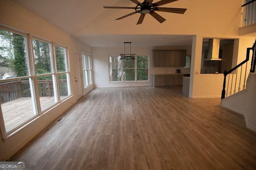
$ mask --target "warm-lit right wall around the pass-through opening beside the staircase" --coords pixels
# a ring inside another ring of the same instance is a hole
[[[246,49],[252,47],[256,37],[226,36],[226,35],[194,35],[192,43],[192,62],[190,70],[190,98],[220,97],[224,76],[223,74],[200,74],[203,38],[232,38],[239,39],[238,49],[234,49],[233,60],[237,65],[246,59]],[[235,41],[236,43],[237,41]],[[235,45],[236,47],[236,45]],[[235,48],[234,47],[234,48]],[[249,69],[250,70],[250,69]],[[198,74],[196,74],[198,72]]]

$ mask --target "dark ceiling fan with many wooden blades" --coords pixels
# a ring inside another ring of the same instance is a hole
[[[130,0],[137,4],[136,7],[118,7],[118,6],[103,6],[103,8],[111,8],[111,9],[134,9],[135,12],[132,12],[130,14],[127,14],[125,16],[122,16],[120,18],[117,18],[116,20],[121,20],[123,18],[126,18],[128,16],[131,16],[136,13],[140,13],[140,18],[137,22],[138,24],[141,24],[144,20],[144,17],[146,14],[150,14],[152,17],[154,17],[156,20],[158,20],[160,23],[166,21],[163,17],[158,15],[156,12],[171,12],[171,13],[177,13],[177,14],[184,14],[187,9],[185,8],[163,8],[158,7],[162,6],[164,4],[169,4],[171,2],[177,1],[177,0],[160,0],[156,3],[152,3],[153,0],[144,0],[144,2],[140,3],[138,0]]]

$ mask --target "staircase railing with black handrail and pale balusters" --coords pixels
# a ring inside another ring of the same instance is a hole
[[[247,48],[246,51],[246,59],[242,61],[240,64],[235,66],[229,71],[224,71],[224,81],[223,81],[223,89],[221,94],[221,99],[224,99],[225,97],[231,96],[232,94],[235,94],[237,92],[241,91],[246,88],[246,76],[247,76],[247,63],[250,58],[250,51],[252,50],[252,61],[251,61],[251,69],[250,72],[255,72],[255,65],[256,65],[256,40],[254,45],[251,48]],[[245,68],[243,68],[243,66]],[[238,70],[239,69],[239,70]],[[231,75],[232,74],[232,75]],[[228,76],[228,81],[226,82],[226,78]],[[239,81],[237,81],[239,80]],[[241,82],[243,83],[241,85]],[[227,84],[227,90],[226,90],[226,84]],[[230,91],[228,91],[230,88]]]

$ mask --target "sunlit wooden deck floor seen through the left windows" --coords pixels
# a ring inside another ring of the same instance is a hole
[[[63,97],[62,97],[63,98]],[[54,97],[40,97],[42,109],[54,104]],[[26,121],[36,113],[33,111],[32,98],[18,98],[1,104],[6,131]]]

